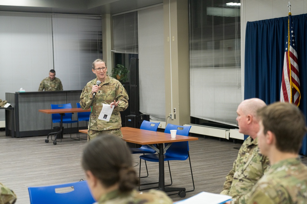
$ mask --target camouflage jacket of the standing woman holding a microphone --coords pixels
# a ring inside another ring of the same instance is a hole
[[[84,87],[80,96],[81,108],[90,108],[93,97],[92,87],[96,85],[97,80],[97,78],[91,80]],[[107,76],[106,80],[99,85],[99,90],[93,101],[90,129],[103,131],[121,128],[122,120],[119,111],[124,111],[128,107],[128,99],[128,94],[122,84],[118,80]],[[99,120],[98,117],[102,109],[102,104],[111,104],[114,100],[116,102],[119,101],[119,103],[118,106],[113,109],[110,121]]]

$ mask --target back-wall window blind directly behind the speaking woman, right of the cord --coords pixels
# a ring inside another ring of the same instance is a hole
[[[100,16],[52,15],[56,76],[64,90],[81,90],[96,76],[92,62],[102,58]]]

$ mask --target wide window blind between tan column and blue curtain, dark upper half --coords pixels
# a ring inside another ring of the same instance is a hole
[[[240,7],[214,0],[189,3],[191,116],[236,126],[242,101]]]

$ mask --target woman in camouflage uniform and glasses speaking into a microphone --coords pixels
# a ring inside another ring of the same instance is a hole
[[[84,87],[80,96],[80,106],[83,109],[88,109],[91,106],[93,94],[96,95],[93,99],[93,109],[89,124],[89,134],[87,140],[92,140],[98,135],[109,134],[116,135],[122,138],[122,120],[119,111],[124,111],[128,107],[128,94],[122,84],[107,75],[107,66],[105,61],[96,59],[92,64],[92,72],[97,76]],[[96,85],[97,80],[101,82]],[[115,106],[110,118],[110,121],[99,120],[99,114],[102,109],[102,104],[110,104]]]

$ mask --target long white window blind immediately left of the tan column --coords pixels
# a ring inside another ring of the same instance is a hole
[[[138,11],[140,112],[165,121],[163,6]]]

